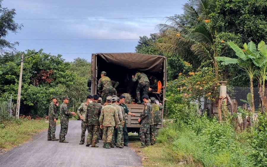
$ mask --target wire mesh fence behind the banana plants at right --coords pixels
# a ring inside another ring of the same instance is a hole
[[[267,90],[265,90],[267,91]],[[254,87],[254,105],[255,110],[260,108],[260,96],[259,96],[259,88]],[[230,96],[231,99],[236,99],[237,106],[242,107],[243,104],[247,103],[250,107],[250,87],[227,87],[227,94]]]

